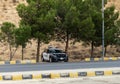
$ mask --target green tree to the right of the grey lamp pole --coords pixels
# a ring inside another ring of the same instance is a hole
[[[105,54],[108,45],[115,44],[115,39],[118,37],[118,28],[116,23],[119,18],[119,12],[115,12],[115,6],[105,9]]]

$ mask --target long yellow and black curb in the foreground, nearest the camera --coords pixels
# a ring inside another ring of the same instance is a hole
[[[1,81],[6,80],[26,80],[26,79],[56,79],[56,78],[78,78],[78,77],[95,77],[95,76],[112,76],[120,75],[120,71],[87,71],[87,72],[68,72],[68,73],[44,73],[44,74],[17,74],[17,75],[0,75]]]

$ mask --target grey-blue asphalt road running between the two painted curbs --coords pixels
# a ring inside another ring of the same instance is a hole
[[[37,64],[16,64],[0,65],[0,72],[23,72],[23,71],[46,71],[46,70],[73,70],[88,68],[114,68],[120,67],[120,61],[108,62],[60,62],[60,63],[37,63]]]

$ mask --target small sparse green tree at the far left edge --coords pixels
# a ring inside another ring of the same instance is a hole
[[[10,61],[12,60],[17,48],[12,48],[15,46],[15,37],[14,37],[14,30],[15,25],[10,22],[4,22],[1,26],[1,37],[4,42],[7,42],[9,45],[9,51],[10,51]]]

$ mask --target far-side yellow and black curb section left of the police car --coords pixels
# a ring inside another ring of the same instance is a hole
[[[0,61],[0,65],[4,64],[34,64],[36,60],[16,60],[16,61]]]

